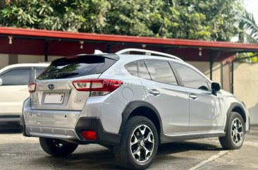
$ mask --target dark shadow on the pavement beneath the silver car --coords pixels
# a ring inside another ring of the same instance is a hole
[[[91,151],[87,151],[87,148]],[[94,149],[96,148],[96,149]],[[158,157],[165,157],[167,154],[175,154],[178,152],[187,152],[188,150],[221,150],[216,145],[209,145],[197,142],[176,142],[159,147]],[[171,162],[173,157],[169,157]],[[121,169],[113,156],[113,151],[104,147],[80,147],[79,152],[75,152],[70,157],[37,157],[33,162],[42,164],[44,159],[49,159],[54,169]],[[183,159],[174,157],[175,159]],[[164,158],[166,159],[166,158]]]

